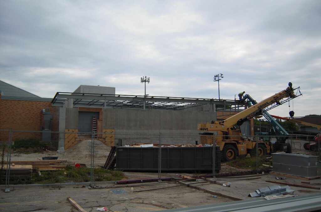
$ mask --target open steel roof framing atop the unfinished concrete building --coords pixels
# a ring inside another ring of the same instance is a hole
[[[109,107],[183,110],[206,104],[242,105],[238,101],[228,99],[208,99],[189,97],[159,97],[139,95],[88,94],[57,92],[51,103],[53,106],[63,106],[66,100],[72,99],[73,106],[78,107]]]

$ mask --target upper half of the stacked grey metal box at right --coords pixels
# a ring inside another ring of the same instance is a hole
[[[317,156],[313,155],[299,155],[289,153],[273,153],[273,163],[282,163],[295,166],[317,166]]]

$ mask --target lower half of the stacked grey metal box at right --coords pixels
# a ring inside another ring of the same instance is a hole
[[[294,166],[288,164],[273,163],[273,172],[281,174],[290,174],[299,177],[316,177],[317,166]]]

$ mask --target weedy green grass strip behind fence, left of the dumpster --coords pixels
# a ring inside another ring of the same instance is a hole
[[[32,170],[30,178],[11,179],[10,184],[54,184],[54,183],[76,183],[76,182],[90,182],[90,168],[80,167],[76,169],[68,165],[65,170],[57,171],[40,171],[38,169]],[[122,171],[113,171],[94,168],[94,181],[114,181],[124,178]]]

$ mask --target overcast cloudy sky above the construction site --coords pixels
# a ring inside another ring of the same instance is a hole
[[[219,73],[223,99],[292,82],[295,116],[320,115],[321,1],[0,1],[0,79],[40,97],[143,95],[147,76],[151,96],[218,98]]]

